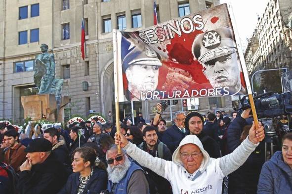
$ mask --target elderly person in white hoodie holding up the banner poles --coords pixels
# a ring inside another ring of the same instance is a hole
[[[193,122],[192,125],[204,123],[199,117],[191,117],[187,122]],[[173,194],[221,194],[223,178],[238,169],[263,138],[261,124],[258,129],[253,124],[249,136],[237,149],[222,158],[213,159],[196,135],[187,135],[174,151],[172,162],[152,157],[128,142],[122,133],[116,133],[115,142],[139,164],[166,178]]]

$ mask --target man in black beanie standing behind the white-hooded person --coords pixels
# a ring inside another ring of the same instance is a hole
[[[185,129],[190,130],[191,135],[197,135],[197,137],[201,140],[204,149],[208,152],[209,156],[211,158],[220,158],[220,147],[213,138],[209,137],[203,131],[203,124],[203,116],[196,111],[187,114],[184,120]]]

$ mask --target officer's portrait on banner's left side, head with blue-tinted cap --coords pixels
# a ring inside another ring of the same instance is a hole
[[[127,100],[144,100],[141,92],[155,91],[158,85],[160,56],[150,47],[139,43],[124,58],[122,70],[128,87]]]

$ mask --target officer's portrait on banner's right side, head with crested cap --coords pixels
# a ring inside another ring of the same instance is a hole
[[[229,95],[246,94],[241,83],[242,67],[238,49],[230,27],[197,35],[192,52],[203,65],[203,72],[214,89],[228,87]]]

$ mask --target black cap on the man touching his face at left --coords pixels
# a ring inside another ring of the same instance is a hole
[[[52,150],[52,144],[49,140],[45,138],[37,138],[34,139],[28,144],[27,148],[25,148],[25,152],[48,152]]]

